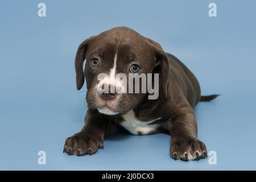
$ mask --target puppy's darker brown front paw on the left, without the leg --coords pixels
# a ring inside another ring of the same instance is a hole
[[[92,155],[103,148],[103,138],[96,134],[80,132],[66,139],[63,152],[69,155]]]

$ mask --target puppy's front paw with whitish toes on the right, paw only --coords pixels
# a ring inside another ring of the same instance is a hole
[[[170,155],[175,160],[199,160],[207,157],[205,144],[194,137],[174,137]]]

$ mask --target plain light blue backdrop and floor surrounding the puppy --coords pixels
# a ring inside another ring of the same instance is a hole
[[[47,16],[39,18],[38,3]],[[208,5],[217,4],[210,18]],[[255,1],[1,1],[0,169],[256,169]],[[118,131],[92,156],[63,154],[84,125],[85,86],[76,90],[75,53],[91,35],[127,26],[179,57],[200,81],[199,138],[217,152],[182,162],[170,137]],[[38,151],[46,151],[46,165]]]

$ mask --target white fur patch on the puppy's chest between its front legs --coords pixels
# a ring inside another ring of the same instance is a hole
[[[125,121],[121,122],[120,125],[134,135],[138,135],[139,133],[146,135],[152,131],[155,131],[156,128],[159,127],[159,125],[157,124],[152,124],[152,125],[148,125],[148,124],[160,118],[154,119],[153,121],[147,121],[147,122],[139,121],[135,117],[133,110],[129,111],[126,114],[123,114],[122,117],[123,119],[125,119]]]

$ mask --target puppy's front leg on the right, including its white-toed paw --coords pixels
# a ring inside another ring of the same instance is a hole
[[[195,111],[187,103],[181,104],[176,117],[170,125],[172,158],[181,160],[196,160],[207,157],[205,144],[197,139],[197,123]]]

